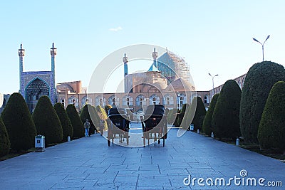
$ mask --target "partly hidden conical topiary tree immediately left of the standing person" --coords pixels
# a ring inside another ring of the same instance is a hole
[[[85,129],[81,122],[81,118],[76,111],[76,107],[73,104],[70,104],[66,107],[66,112],[73,127],[73,139],[84,137]]]

